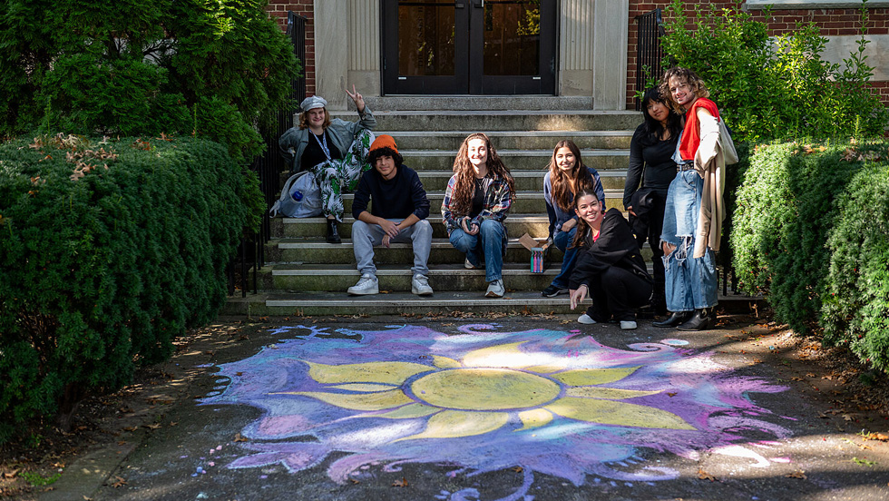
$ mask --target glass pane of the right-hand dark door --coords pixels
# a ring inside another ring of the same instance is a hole
[[[540,0],[484,2],[484,74],[540,74]]]

